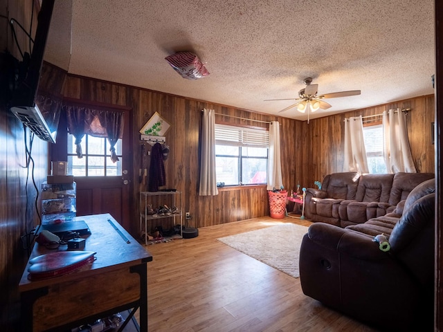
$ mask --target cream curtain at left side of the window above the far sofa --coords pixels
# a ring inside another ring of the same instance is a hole
[[[369,173],[361,116],[345,119],[345,172]]]

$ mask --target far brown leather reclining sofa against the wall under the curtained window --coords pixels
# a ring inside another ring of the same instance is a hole
[[[305,216],[345,228],[383,216],[406,199],[419,183],[434,178],[433,173],[328,174],[321,190],[307,188]]]

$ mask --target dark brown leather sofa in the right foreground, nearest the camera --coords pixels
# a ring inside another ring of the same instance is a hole
[[[374,241],[379,234],[390,250]],[[309,226],[300,248],[302,291],[380,331],[433,331],[434,247],[431,179],[384,216],[346,228]]]

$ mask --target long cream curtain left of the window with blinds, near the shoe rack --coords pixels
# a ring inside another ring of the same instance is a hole
[[[215,111],[203,110],[201,126],[200,196],[214,196],[217,190],[215,174]]]

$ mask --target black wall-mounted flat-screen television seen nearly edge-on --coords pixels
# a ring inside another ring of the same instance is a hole
[[[57,136],[60,107],[53,107],[44,98],[37,98],[37,90],[54,2],[55,0],[42,1],[42,7],[37,17],[33,51],[30,55],[28,68],[26,68],[26,75],[22,82],[18,82],[10,102],[10,110],[26,127],[40,139],[52,143],[55,143]]]

